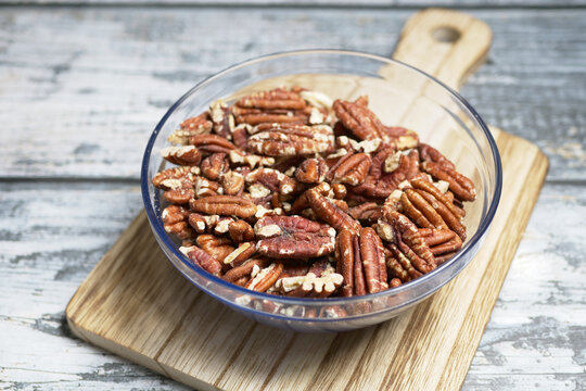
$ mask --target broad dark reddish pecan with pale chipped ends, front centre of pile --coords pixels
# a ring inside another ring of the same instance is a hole
[[[267,216],[254,226],[258,253],[275,258],[309,258],[331,254],[335,230],[301,216]]]

